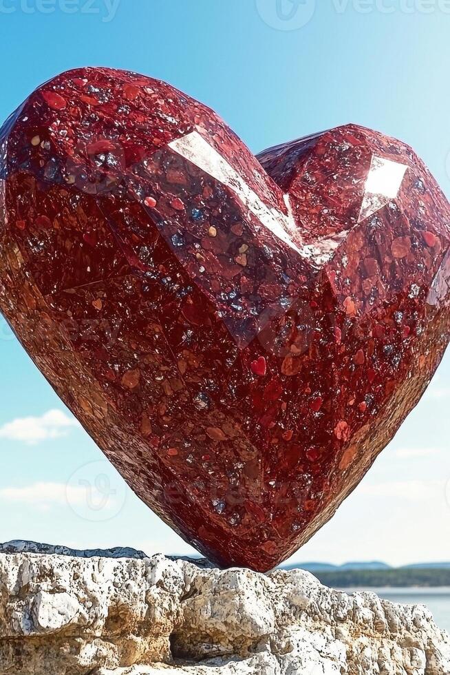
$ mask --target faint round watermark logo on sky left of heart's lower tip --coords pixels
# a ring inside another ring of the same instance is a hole
[[[127,500],[127,486],[105,459],[90,461],[67,481],[65,496],[83,520],[104,522],[115,518]]]

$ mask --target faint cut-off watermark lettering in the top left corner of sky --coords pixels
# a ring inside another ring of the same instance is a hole
[[[92,14],[109,23],[120,0],[0,0],[0,14]]]

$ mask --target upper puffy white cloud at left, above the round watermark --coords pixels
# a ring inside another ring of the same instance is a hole
[[[17,417],[0,427],[0,438],[34,445],[40,441],[67,436],[69,428],[78,426],[74,417],[50,410],[41,417]]]

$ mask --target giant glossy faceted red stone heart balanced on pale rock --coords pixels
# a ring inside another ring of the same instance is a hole
[[[355,125],[257,158],[167,84],[87,68],[1,132],[0,308],[131,488],[222,565],[330,519],[449,341],[450,209]]]

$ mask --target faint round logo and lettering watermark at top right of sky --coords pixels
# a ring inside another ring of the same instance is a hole
[[[270,28],[299,30],[314,16],[316,0],[256,0],[259,16]],[[336,14],[450,14],[450,0],[323,0]]]

